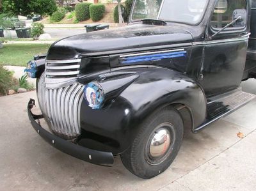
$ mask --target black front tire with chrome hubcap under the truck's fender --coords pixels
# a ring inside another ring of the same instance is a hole
[[[164,172],[179,152],[183,121],[175,109],[162,109],[143,121],[132,145],[121,155],[124,166],[140,178]]]

